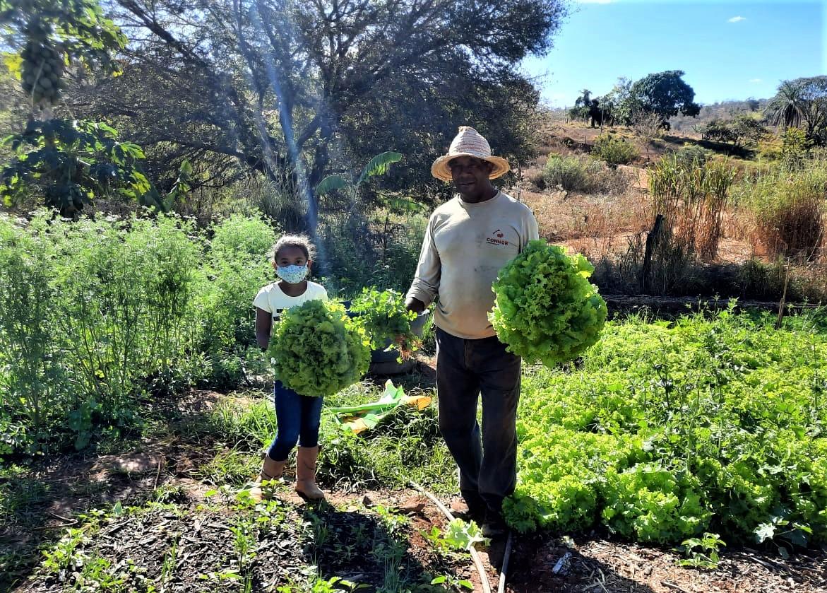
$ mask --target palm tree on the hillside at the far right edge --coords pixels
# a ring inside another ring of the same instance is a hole
[[[802,128],[816,144],[827,144],[827,76],[785,80],[767,104],[772,126]]]

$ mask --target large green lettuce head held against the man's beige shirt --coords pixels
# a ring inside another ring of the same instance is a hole
[[[594,271],[581,254],[570,257],[542,239],[528,243],[494,282],[490,321],[508,350],[553,367],[594,345],[607,314],[588,281]]]

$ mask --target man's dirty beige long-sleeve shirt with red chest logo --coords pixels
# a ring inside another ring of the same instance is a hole
[[[433,322],[451,335],[470,340],[495,335],[488,321],[491,285],[532,239],[538,239],[537,219],[510,195],[500,191],[478,203],[457,196],[428,220],[408,296],[427,306],[438,295]]]

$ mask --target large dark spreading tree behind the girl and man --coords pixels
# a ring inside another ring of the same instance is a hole
[[[536,93],[515,64],[546,51],[562,0],[111,0],[124,75],[79,96],[159,161],[208,159],[311,188],[376,152],[424,181],[457,125],[523,156]],[[522,93],[517,99],[511,94]],[[517,125],[509,127],[509,123]],[[502,134],[500,136],[500,134]]]

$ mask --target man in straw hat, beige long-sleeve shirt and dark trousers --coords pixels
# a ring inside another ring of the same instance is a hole
[[[411,311],[437,296],[437,394],[439,428],[460,470],[460,491],[485,537],[505,533],[503,499],[517,480],[516,417],[520,359],[497,340],[488,314],[497,272],[538,239],[528,206],[491,184],[509,171],[492,157],[484,137],[462,127],[431,173],[453,181],[459,195],[433,211],[425,231]],[[482,394],[482,439],[476,421]]]

